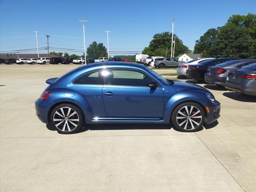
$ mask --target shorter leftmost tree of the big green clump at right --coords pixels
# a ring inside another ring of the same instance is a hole
[[[199,40],[196,40],[196,45],[194,47],[194,53],[202,53],[203,57],[211,57],[212,46],[214,45],[215,39],[217,37],[218,29],[208,29],[203,36],[200,36]]]

